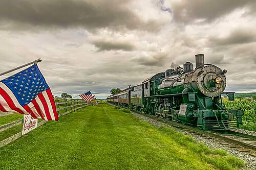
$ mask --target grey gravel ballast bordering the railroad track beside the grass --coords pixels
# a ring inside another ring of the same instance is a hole
[[[153,126],[156,126],[156,127],[166,126],[166,127],[170,127],[170,128],[174,129],[174,127],[166,125],[166,124],[159,122],[158,120],[152,119],[150,117],[147,117],[147,116],[141,115],[139,113],[135,113],[135,112],[131,112],[131,113],[133,115],[135,115],[136,117],[144,120],[145,122],[152,124]],[[203,142],[209,148],[223,149],[223,150],[227,151],[230,155],[236,156],[236,157],[244,160],[245,164],[246,164],[244,169],[256,170],[256,158],[254,156],[249,155],[247,152],[240,152],[237,150],[237,148],[227,147],[226,146],[227,143],[223,140],[212,138],[212,137],[205,137],[205,136],[203,137],[200,134],[191,133],[189,131],[180,130],[177,128],[175,128],[175,130],[182,132],[185,135],[189,135],[189,136],[193,137],[197,142]],[[247,130],[243,130],[243,129],[234,129],[234,131],[246,133],[246,134],[250,134],[250,135],[256,135],[255,132],[247,131]]]

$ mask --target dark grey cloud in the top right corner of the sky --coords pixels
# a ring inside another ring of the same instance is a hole
[[[172,10],[177,22],[211,22],[238,8],[247,7],[249,13],[255,12],[255,4],[253,0],[184,0],[173,3]]]

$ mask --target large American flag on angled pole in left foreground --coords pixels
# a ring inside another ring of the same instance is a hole
[[[0,81],[0,110],[58,120],[51,89],[36,64]]]

